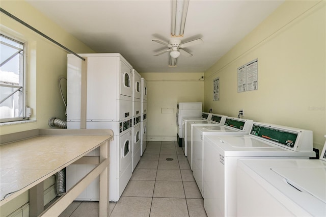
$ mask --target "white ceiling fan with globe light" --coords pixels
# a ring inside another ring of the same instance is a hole
[[[198,39],[195,39],[192,41],[188,41],[185,43],[181,43],[181,40],[178,38],[172,38],[169,42],[161,41],[158,39],[153,39],[152,41],[155,41],[159,44],[168,46],[168,48],[161,50],[158,53],[155,53],[153,56],[159,56],[163,53],[170,52],[170,56],[172,58],[178,58],[180,56],[180,54],[185,57],[192,57],[193,55],[191,53],[189,53],[188,51],[184,50],[183,48],[193,46],[196,44],[200,44],[203,42],[201,38],[198,38]]]

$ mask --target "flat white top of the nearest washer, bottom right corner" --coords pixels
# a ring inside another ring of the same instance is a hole
[[[325,161],[240,159],[237,165],[295,215],[303,215],[303,209],[312,216],[326,216]]]

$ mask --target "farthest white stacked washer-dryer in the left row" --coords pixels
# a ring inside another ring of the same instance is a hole
[[[141,155],[147,144],[147,82],[141,78]]]

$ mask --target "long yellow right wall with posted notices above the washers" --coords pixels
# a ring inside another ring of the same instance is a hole
[[[205,110],[326,134],[326,2],[286,1],[205,72]],[[237,93],[237,68],[258,58],[258,90]],[[212,80],[220,77],[220,101]]]

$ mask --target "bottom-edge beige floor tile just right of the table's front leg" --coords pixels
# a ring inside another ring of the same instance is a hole
[[[152,198],[121,197],[110,216],[149,216],[151,202]]]

